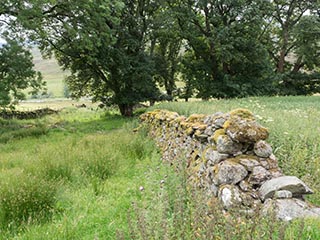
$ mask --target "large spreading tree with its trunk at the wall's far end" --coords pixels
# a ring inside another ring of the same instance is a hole
[[[157,7],[152,0],[51,1],[34,6],[42,14],[33,15],[32,23],[30,14],[20,22],[44,54],[55,54],[71,70],[67,83],[74,97],[92,96],[132,116],[136,103],[159,94],[146,50]]]

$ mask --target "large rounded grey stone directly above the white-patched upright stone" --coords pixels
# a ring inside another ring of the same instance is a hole
[[[225,160],[216,167],[214,182],[221,184],[237,184],[245,179],[248,171],[244,166],[231,160]]]

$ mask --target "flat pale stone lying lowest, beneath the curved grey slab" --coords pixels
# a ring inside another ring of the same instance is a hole
[[[306,202],[296,198],[268,199],[262,207],[262,213],[269,214],[272,211],[278,219],[283,221],[320,217],[319,208],[311,207]]]

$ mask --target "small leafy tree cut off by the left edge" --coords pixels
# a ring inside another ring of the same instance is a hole
[[[33,66],[32,55],[18,42],[7,39],[0,47],[0,106],[24,99],[23,90],[35,94],[43,87],[41,74]]]

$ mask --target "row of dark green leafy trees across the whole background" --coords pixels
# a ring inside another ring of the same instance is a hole
[[[116,104],[125,116],[142,101],[320,91],[319,0],[3,2],[3,105],[17,90],[42,85],[30,64],[23,84],[18,71],[4,67],[13,59],[30,63],[26,40],[71,70],[67,83],[74,97]],[[17,46],[24,59],[4,53]]]

